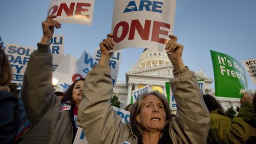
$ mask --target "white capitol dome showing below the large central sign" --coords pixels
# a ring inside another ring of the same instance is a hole
[[[130,70],[144,69],[168,64],[170,64],[170,61],[166,53],[145,49],[140,55],[139,61]]]

